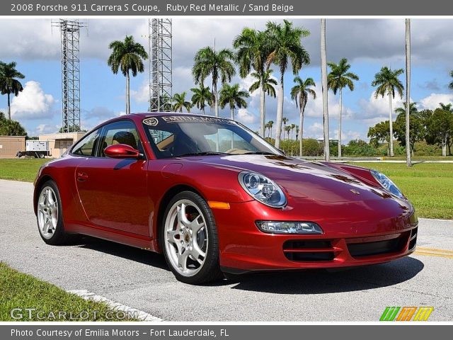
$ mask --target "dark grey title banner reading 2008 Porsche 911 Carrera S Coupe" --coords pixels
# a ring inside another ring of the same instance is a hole
[[[2,0],[1,16],[452,16],[446,0]]]

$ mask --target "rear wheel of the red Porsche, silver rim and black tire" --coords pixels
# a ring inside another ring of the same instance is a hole
[[[67,243],[69,235],[64,232],[62,199],[55,181],[42,184],[35,204],[38,212],[38,232],[42,240],[52,245]]]

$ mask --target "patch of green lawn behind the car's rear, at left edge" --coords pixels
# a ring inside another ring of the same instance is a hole
[[[50,159],[0,159],[0,179],[35,181],[40,166]]]

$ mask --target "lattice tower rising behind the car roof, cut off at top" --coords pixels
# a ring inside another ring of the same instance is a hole
[[[171,111],[171,19],[149,19],[149,111]]]

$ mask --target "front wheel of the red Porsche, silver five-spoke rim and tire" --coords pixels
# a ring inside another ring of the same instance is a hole
[[[183,191],[168,203],[160,241],[168,267],[181,282],[201,284],[223,277],[214,216],[200,195]]]

